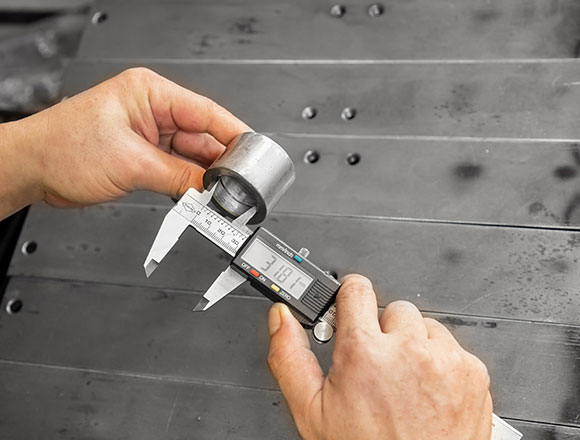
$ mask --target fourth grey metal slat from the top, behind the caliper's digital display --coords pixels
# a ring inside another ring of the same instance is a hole
[[[229,258],[191,230],[145,278],[166,211],[36,206],[18,247],[34,240],[38,249],[17,253],[10,273],[205,291]],[[287,214],[266,226],[324,268],[368,275],[382,305],[404,298],[424,310],[578,323],[578,232]]]

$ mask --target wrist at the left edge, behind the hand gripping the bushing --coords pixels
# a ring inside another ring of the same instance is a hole
[[[0,125],[0,218],[42,200],[42,127],[26,118]]]

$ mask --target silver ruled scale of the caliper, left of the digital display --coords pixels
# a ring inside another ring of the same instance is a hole
[[[177,204],[175,210],[189,220],[196,231],[231,256],[235,256],[248,238],[218,213],[191,197]]]

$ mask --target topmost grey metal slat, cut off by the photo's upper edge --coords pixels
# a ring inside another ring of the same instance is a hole
[[[99,59],[486,59],[577,56],[575,0],[341,2],[99,1],[107,21],[87,30],[79,56]],[[163,32],[151,32],[161,28]],[[131,29],[128,33],[127,29]],[[404,35],[404,38],[401,36]],[[122,41],[123,44],[119,44]],[[460,43],[458,43],[460,42]]]

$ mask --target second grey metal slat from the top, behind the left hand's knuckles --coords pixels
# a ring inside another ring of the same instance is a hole
[[[145,65],[209,96],[256,131],[580,139],[580,61],[248,65],[76,62],[65,94]],[[303,120],[302,109],[318,110]],[[350,106],[357,116],[341,119]]]

